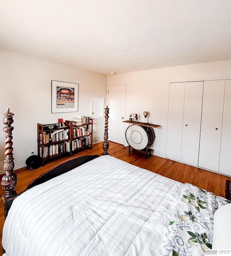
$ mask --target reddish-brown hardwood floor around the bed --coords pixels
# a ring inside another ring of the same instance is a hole
[[[71,158],[82,156],[82,155],[101,155],[103,153],[102,142],[94,144],[93,149],[85,148],[79,150],[74,154]],[[132,151],[129,154],[128,148],[122,146],[121,144],[109,142],[109,150],[111,156],[117,157],[118,159],[129,162],[130,164],[139,166],[144,169],[148,169],[152,172],[161,174],[165,177],[174,179],[176,181],[185,183],[191,183],[200,188],[206,189],[208,191],[213,192],[215,195],[225,196],[225,182],[226,179],[231,179],[225,175],[209,172],[206,170],[202,170],[200,168],[196,168],[190,165],[182,164],[179,162],[175,162],[173,160],[165,159],[158,156],[151,156],[148,159],[145,159],[145,154],[139,151]],[[68,156],[64,156],[62,158],[57,158],[51,162],[47,162],[43,167],[36,170],[28,170],[26,167],[21,168],[15,171],[17,173],[17,185],[16,191],[17,193],[21,193],[29,183],[41,175],[42,173],[49,170],[52,166],[70,159]],[[2,177],[2,175],[1,175]],[[0,177],[0,178],[1,178]],[[0,195],[4,194],[4,191],[0,190]],[[0,199],[0,240],[2,238],[2,228],[4,224],[4,208],[3,201]],[[3,253],[3,248],[0,246],[0,255]]]

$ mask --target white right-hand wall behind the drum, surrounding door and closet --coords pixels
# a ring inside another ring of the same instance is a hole
[[[148,111],[149,123],[161,125],[154,129],[153,155],[166,157],[169,83],[230,78],[231,59],[109,75],[108,86],[126,84],[126,120],[138,113],[138,121],[144,122]]]

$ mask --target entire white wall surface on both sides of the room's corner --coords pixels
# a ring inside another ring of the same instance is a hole
[[[169,83],[231,78],[231,60],[109,75],[108,79],[106,75],[5,50],[0,50],[0,65],[0,114],[5,113],[6,108],[15,114],[13,153],[16,169],[25,165],[31,150],[37,153],[37,123],[89,116],[90,97],[106,99],[106,83],[108,86],[126,84],[127,120],[132,112],[138,113],[139,121],[144,121],[143,112],[148,111],[149,122],[161,125],[154,129],[153,154],[166,157]],[[51,80],[79,84],[78,112],[51,113]],[[95,136],[103,140],[104,118],[94,120]],[[0,170],[4,164],[4,140],[1,131]]]

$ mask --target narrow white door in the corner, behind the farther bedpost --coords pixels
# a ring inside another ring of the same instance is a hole
[[[125,84],[108,86],[108,140],[124,145]]]

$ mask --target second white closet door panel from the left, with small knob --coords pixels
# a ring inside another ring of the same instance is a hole
[[[203,84],[185,84],[181,162],[195,166],[199,157]]]

